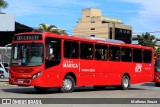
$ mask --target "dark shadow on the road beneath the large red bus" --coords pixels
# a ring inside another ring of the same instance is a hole
[[[129,88],[129,90],[145,90],[140,88]],[[19,93],[19,94],[61,94],[57,88],[51,88],[48,91],[45,92],[37,92],[34,88],[10,88],[10,89],[2,89],[2,91],[6,93]],[[105,89],[96,90],[93,87],[76,87],[73,92],[97,92],[97,91],[123,91],[118,90],[115,87],[106,87]]]

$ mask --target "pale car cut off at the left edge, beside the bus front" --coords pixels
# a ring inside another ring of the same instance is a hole
[[[0,78],[8,78],[9,77],[9,64],[6,62],[0,62]]]

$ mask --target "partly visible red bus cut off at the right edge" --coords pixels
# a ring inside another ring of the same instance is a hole
[[[155,81],[155,85],[157,87],[160,87],[160,54],[157,54],[155,59],[154,81]]]

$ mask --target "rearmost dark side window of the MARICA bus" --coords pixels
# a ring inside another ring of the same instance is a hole
[[[143,61],[144,63],[152,62],[152,51],[148,51],[148,50],[143,51]]]

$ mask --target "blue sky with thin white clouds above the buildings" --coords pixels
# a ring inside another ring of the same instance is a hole
[[[133,34],[160,31],[160,0],[6,0],[2,11],[14,14],[15,20],[37,28],[45,23],[72,35],[73,26],[84,8],[102,10],[102,15],[118,18],[133,27]],[[158,36],[160,32],[153,33]]]

